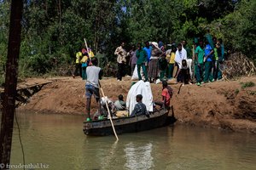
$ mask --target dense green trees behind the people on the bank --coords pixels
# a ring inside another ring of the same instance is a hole
[[[0,0],[0,74],[9,31],[9,0]],[[95,54],[115,61],[121,41],[165,43],[222,37],[225,48],[256,61],[256,1],[253,0],[30,0],[25,1],[20,77],[70,74],[85,37]],[[114,62],[115,63],[115,62]],[[111,65],[113,66],[113,65]],[[102,65],[104,67],[104,65]]]

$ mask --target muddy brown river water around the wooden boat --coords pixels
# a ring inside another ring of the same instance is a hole
[[[256,135],[176,125],[87,137],[83,116],[18,113],[26,169],[255,169]],[[15,123],[11,164],[22,163]],[[35,167],[32,167],[35,166]],[[15,168],[13,168],[15,169]]]

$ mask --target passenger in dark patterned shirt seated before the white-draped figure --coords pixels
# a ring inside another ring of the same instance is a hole
[[[136,101],[137,101],[137,104],[134,106],[134,109],[131,112],[131,116],[140,116],[140,115],[149,116],[147,107],[145,104],[143,104],[143,95],[142,94],[137,94]]]

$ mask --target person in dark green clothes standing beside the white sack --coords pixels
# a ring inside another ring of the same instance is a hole
[[[142,80],[141,76],[141,67],[143,68],[143,74],[145,77],[145,81],[148,81],[148,72],[146,69],[146,62],[148,61],[148,54],[147,52],[142,48],[142,45],[140,43],[137,44],[137,75],[139,80]]]

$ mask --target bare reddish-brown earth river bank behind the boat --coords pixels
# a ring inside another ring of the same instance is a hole
[[[61,77],[54,79],[34,94],[29,103],[22,105],[19,111],[41,113],[84,114],[84,84],[79,77]],[[105,78],[102,88],[110,99],[126,94],[131,86],[130,77],[117,82],[114,78]],[[31,80],[27,80],[31,81]],[[254,82],[256,77],[242,77],[230,82],[212,82],[201,85],[186,85],[177,94],[180,84],[171,85],[174,90],[172,105],[177,123],[192,126],[216,127],[230,131],[256,133],[256,86],[241,88],[241,82]],[[161,85],[152,84],[154,100],[160,100]],[[93,99],[92,108],[96,110]]]

